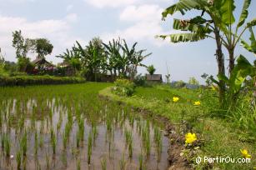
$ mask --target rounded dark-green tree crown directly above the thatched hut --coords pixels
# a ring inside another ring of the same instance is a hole
[[[45,57],[53,52],[53,44],[46,38],[32,40],[33,51],[38,53],[38,57]]]

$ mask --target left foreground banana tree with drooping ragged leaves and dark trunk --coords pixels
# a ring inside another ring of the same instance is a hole
[[[214,17],[214,11],[216,9],[212,7],[213,4],[208,3],[207,0],[180,0],[173,4],[171,7],[165,9],[162,13],[163,19],[167,18],[168,15],[173,15],[176,12],[180,12],[183,15],[188,10],[199,10],[203,13],[208,13],[210,18]],[[214,20],[208,20],[202,18],[202,16],[196,16],[189,20],[175,19],[173,22],[173,28],[185,33],[174,33],[170,35],[161,35],[165,39],[170,37],[171,42],[197,42],[206,37],[213,37],[216,41],[216,57],[218,62],[218,75],[225,75],[224,57],[222,52],[222,40],[220,35],[220,28],[218,23]],[[212,36],[213,34],[213,36]],[[219,102],[221,105],[225,103],[225,83],[221,80],[218,82],[219,87]]]

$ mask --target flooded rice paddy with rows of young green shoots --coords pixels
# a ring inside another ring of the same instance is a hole
[[[0,169],[167,169],[163,125],[100,99],[108,85],[0,88]]]

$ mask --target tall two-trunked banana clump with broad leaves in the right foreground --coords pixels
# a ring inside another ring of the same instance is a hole
[[[180,12],[184,15],[190,10],[198,10],[201,12],[201,15],[188,20],[174,18],[173,28],[186,31],[186,33],[162,35],[160,37],[170,37],[171,42],[196,42],[208,37],[213,38],[216,41],[217,46],[216,56],[218,62],[218,75],[220,77],[225,76],[222,46],[226,47],[228,50],[229,75],[231,75],[235,61],[233,53],[234,48],[241,40],[243,32],[256,24],[256,20],[253,19],[246,24],[241,32],[238,32],[238,28],[243,26],[248,17],[248,7],[250,2],[250,0],[243,1],[242,13],[236,27],[233,27],[233,24],[235,24],[235,19],[233,17],[235,6],[233,0],[180,0],[163,12],[163,19],[176,12]],[[205,14],[208,15],[205,16]],[[219,80],[218,87],[219,99],[221,105],[223,105],[225,102],[225,82]]]

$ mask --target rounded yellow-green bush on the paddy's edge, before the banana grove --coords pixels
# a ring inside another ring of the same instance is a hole
[[[112,92],[119,96],[132,96],[135,91],[134,83],[128,79],[117,79],[114,84]]]

